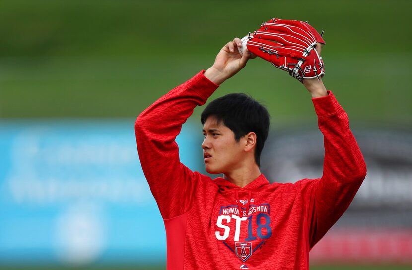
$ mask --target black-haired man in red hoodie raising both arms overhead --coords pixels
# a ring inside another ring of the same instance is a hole
[[[347,115],[321,78],[303,79],[325,137],[321,178],[269,183],[259,169],[269,115],[241,94],[210,103],[202,114],[206,171],[224,177],[212,180],[180,163],[175,138],[182,124],[245,67],[251,54],[241,56],[240,46],[239,38],[227,43],[212,67],[161,97],[135,123],[141,166],[165,223],[169,270],[309,269],[309,250],[366,175]]]

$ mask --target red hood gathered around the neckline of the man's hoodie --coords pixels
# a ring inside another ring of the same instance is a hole
[[[229,202],[234,202],[237,204],[239,214],[242,212],[242,209],[245,209],[246,213],[248,213],[250,202],[252,199],[254,199],[252,198],[252,193],[258,191],[260,187],[269,184],[269,181],[263,174],[259,175],[255,180],[253,180],[243,188],[227,181],[222,177],[216,178],[214,182],[219,186],[220,193],[224,197],[226,197]],[[241,200],[241,196],[243,196],[244,198],[245,195],[247,195],[247,199]],[[246,207],[242,208],[242,204]]]

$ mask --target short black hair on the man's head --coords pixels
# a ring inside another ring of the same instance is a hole
[[[223,121],[235,134],[236,141],[249,132],[254,132],[257,137],[255,161],[260,167],[260,156],[269,133],[268,110],[251,96],[233,93],[210,102],[202,112],[202,124],[205,124],[209,116]]]

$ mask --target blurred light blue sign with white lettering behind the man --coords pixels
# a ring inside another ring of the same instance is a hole
[[[193,170],[200,129],[177,138]],[[0,153],[0,262],[165,261],[133,119],[2,121]]]

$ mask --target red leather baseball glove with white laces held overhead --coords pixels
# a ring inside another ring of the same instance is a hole
[[[323,34],[323,31],[322,31]],[[325,44],[321,35],[308,23],[296,20],[271,19],[260,29],[242,39],[248,50],[271,62],[276,68],[302,82],[325,74],[316,43]],[[244,48],[243,48],[244,49]],[[239,50],[243,54],[243,50]]]

